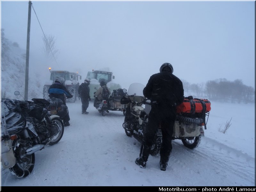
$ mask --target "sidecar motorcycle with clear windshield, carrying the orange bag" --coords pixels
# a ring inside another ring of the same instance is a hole
[[[123,123],[124,131],[127,136],[133,136],[140,143],[142,143],[143,135],[146,131],[148,115],[151,109],[151,101],[141,96],[143,95],[142,90],[144,87],[144,85],[139,83],[131,84],[128,91],[123,89],[123,92],[126,93],[126,97],[121,99],[121,103],[127,105],[126,116]],[[199,115],[199,113],[178,114],[173,126],[172,140],[180,139],[183,145],[190,149],[198,147],[201,138],[204,137],[203,126],[206,125],[205,119],[202,118],[201,115]],[[206,129],[206,127],[204,128]],[[158,154],[161,145],[162,132],[161,126],[159,125],[150,154],[152,156]]]

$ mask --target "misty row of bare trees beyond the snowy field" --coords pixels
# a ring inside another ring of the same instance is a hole
[[[196,97],[207,97],[209,100],[230,101],[232,103],[255,102],[254,88],[244,85],[241,79],[228,81],[226,78],[220,78],[200,84],[190,84],[186,80],[181,81],[183,83],[184,95],[194,94]]]

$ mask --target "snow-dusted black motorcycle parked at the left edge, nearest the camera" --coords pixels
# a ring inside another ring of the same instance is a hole
[[[35,152],[58,143],[64,132],[60,117],[49,114],[48,100],[32,101],[1,100],[1,162],[19,178],[33,171]]]

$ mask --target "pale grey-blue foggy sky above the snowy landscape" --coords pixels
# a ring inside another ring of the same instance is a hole
[[[60,54],[45,60],[43,32],[31,10],[29,72],[109,68],[128,88],[147,84],[164,62],[189,83],[255,81],[254,1],[32,1],[44,34]],[[26,50],[28,1],[1,1],[5,37]]]

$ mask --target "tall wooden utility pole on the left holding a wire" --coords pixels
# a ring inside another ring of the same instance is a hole
[[[26,73],[25,73],[25,100],[28,100],[28,66],[29,66],[31,4],[32,4],[31,1],[28,1],[28,32],[27,32],[27,52],[26,52]]]

